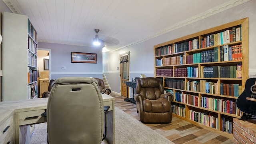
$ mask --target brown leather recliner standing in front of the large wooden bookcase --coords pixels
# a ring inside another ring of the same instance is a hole
[[[172,94],[164,94],[162,81],[153,78],[136,80],[136,100],[138,115],[143,123],[172,122]]]

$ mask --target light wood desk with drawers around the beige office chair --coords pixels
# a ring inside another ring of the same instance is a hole
[[[102,94],[102,98],[104,105],[110,106],[106,139],[110,144],[114,144],[114,98],[107,94]],[[47,102],[48,98],[0,102],[0,128],[4,131],[10,126],[6,132],[0,134],[0,142],[30,144],[29,126],[46,122],[46,118],[41,117],[41,114],[46,109]]]

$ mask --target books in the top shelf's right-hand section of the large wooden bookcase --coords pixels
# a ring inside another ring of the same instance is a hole
[[[217,34],[210,34],[204,38],[201,38],[201,48],[240,41],[242,40],[241,32],[242,27],[233,27],[230,30],[218,32]]]

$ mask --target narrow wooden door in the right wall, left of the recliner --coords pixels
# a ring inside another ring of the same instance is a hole
[[[129,96],[127,92],[126,82],[129,81],[129,53],[120,54],[120,80],[121,80],[121,95]]]

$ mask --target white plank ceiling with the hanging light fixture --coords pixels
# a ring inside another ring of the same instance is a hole
[[[131,46],[201,20],[248,0],[3,0],[27,15],[38,42],[92,46],[108,52]]]

